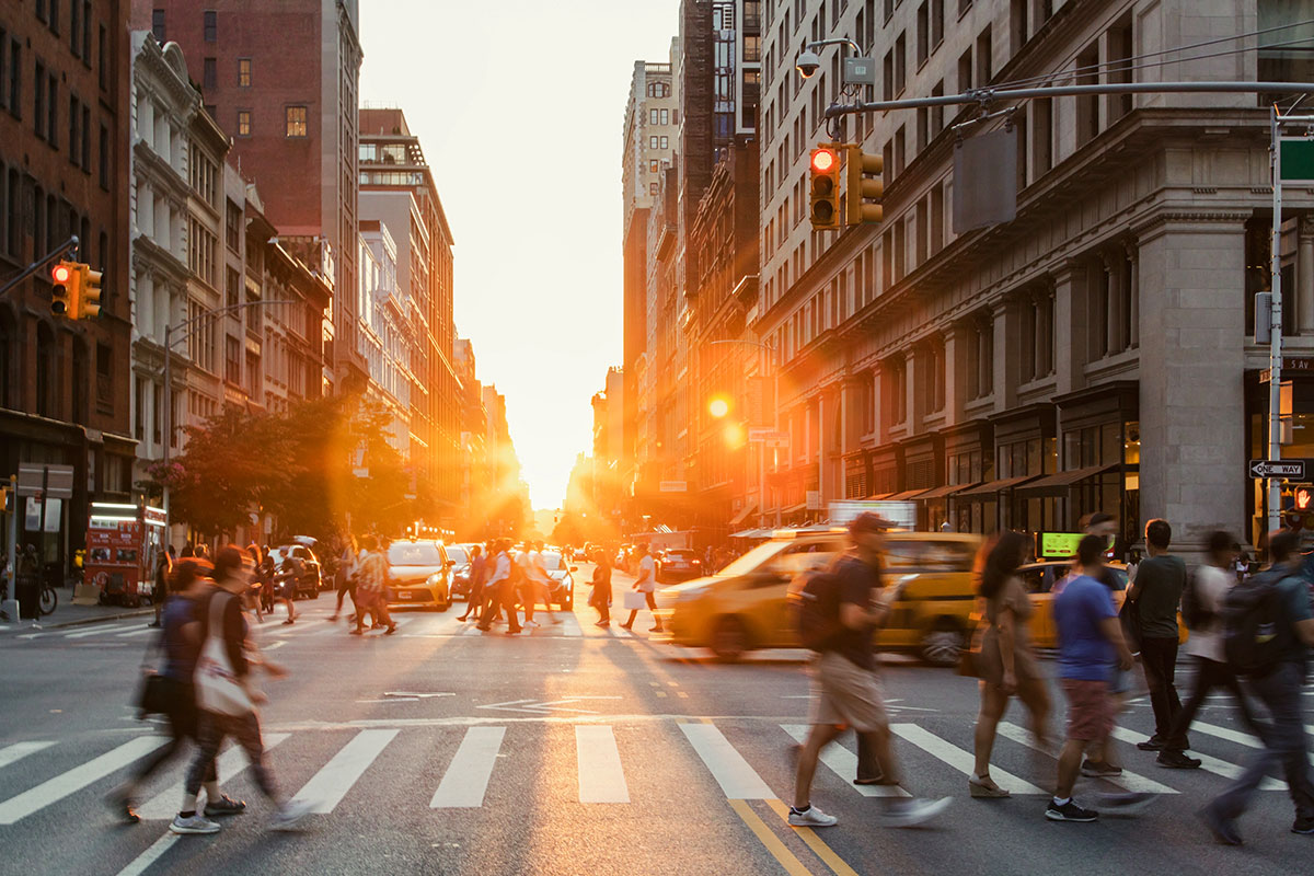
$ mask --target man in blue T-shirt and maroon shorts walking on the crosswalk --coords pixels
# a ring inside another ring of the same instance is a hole
[[[1054,599],[1059,636],[1059,680],[1068,701],[1067,741],[1059,754],[1058,783],[1045,810],[1050,821],[1091,822],[1099,813],[1072,799],[1081,755],[1092,746],[1104,747],[1104,759],[1114,762],[1109,734],[1113,708],[1109,699],[1109,665],[1131,668],[1133,657],[1122,638],[1113,596],[1100,580],[1104,566],[1104,536],[1085,536],[1077,544],[1074,575]],[[1110,806],[1130,812],[1148,801],[1146,795],[1110,795]]]

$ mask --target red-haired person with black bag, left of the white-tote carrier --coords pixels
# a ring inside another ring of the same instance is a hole
[[[197,638],[196,605],[212,590],[210,571],[210,563],[206,561],[188,558],[177,565],[168,582],[173,592],[164,607],[159,641],[151,647],[159,647],[164,653],[160,701],[164,717],[168,718],[170,741],[162,749],[156,749],[133,771],[131,777],[109,795],[110,806],[130,825],[141,821],[135,802],[142,783],[177,754],[184,741],[197,741],[198,713],[192,675],[201,653],[201,642]],[[202,785],[206,817],[234,816],[246,809],[244,802],[233,800],[219,791],[214,760],[209,762],[202,775]]]

